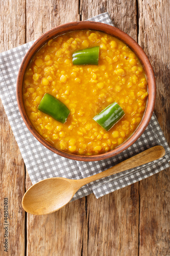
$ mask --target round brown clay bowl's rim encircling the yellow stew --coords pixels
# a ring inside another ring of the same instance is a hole
[[[107,34],[111,34],[114,37],[117,37],[118,39],[125,42],[126,45],[128,45],[131,50],[137,55],[139,58],[145,75],[147,76],[148,80],[148,90],[149,90],[149,96],[148,96],[148,102],[147,107],[145,109],[143,118],[138,125],[135,132],[121,145],[114,148],[114,150],[106,152],[104,154],[100,155],[91,155],[91,156],[82,156],[82,155],[75,155],[71,153],[64,152],[62,150],[59,150],[58,148],[54,147],[52,144],[47,142],[45,139],[43,139],[38,132],[35,130],[34,126],[31,124],[25,107],[23,105],[22,101],[22,82],[23,82],[23,76],[25,74],[25,70],[27,69],[28,64],[30,63],[33,55],[42,47],[42,45],[45,44],[47,40],[50,38],[54,38],[58,35],[75,31],[75,30],[82,30],[82,29],[91,29],[91,30],[98,30],[105,32]],[[28,52],[26,53],[25,57],[23,58],[18,76],[17,76],[17,83],[16,83],[16,98],[17,98],[17,104],[19,108],[19,112],[21,114],[21,117],[25,124],[27,125],[29,131],[33,134],[33,136],[48,150],[51,150],[52,152],[62,156],[66,157],[72,160],[77,161],[99,161],[104,160],[110,157],[113,157],[124,150],[126,150],[128,147],[130,147],[144,132],[146,127],[148,126],[150,119],[152,117],[153,111],[154,111],[154,105],[155,105],[155,98],[156,98],[156,83],[155,83],[155,76],[154,71],[152,69],[151,63],[147,57],[147,55],[144,53],[142,48],[137,44],[137,42],[128,34],[123,32],[122,30],[115,28],[111,25],[107,25],[104,23],[99,22],[92,22],[92,21],[81,21],[81,22],[71,22],[66,23],[60,26],[57,26],[56,28],[53,28],[49,31],[47,31],[45,34],[41,35],[34,44],[30,47]]]

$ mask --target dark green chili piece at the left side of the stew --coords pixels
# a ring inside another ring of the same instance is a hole
[[[61,123],[65,123],[70,113],[69,109],[67,109],[64,103],[48,93],[45,93],[44,97],[42,98],[38,106],[38,110],[52,116]]]

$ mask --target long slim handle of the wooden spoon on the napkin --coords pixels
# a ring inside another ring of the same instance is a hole
[[[81,187],[81,186],[84,186],[92,181],[99,180],[101,178],[104,178],[104,177],[107,177],[107,176],[110,176],[113,174],[117,174],[120,172],[124,172],[124,170],[128,170],[128,169],[140,166],[142,164],[157,160],[157,159],[163,157],[164,155],[165,155],[165,150],[164,150],[163,146],[151,147],[148,150],[145,150],[145,151],[137,154],[136,156],[133,156],[121,163],[118,163],[117,165],[115,165],[107,170],[104,170],[104,172],[102,172],[102,173],[95,174],[93,176],[79,180],[79,185]]]

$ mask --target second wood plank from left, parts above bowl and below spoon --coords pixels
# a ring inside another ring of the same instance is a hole
[[[37,16],[38,10],[38,16]],[[79,3],[71,1],[28,1],[27,41],[57,25],[80,20]],[[27,175],[27,189],[31,186]],[[27,219],[27,255],[87,255],[85,198],[69,203],[51,215]]]

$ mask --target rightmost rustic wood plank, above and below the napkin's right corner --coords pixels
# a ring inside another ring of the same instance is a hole
[[[169,125],[169,1],[139,0],[139,44],[154,68],[155,114],[167,141]],[[140,182],[139,255],[170,254],[170,169]]]

